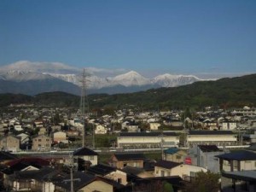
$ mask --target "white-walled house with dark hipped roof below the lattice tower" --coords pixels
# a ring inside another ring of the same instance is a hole
[[[78,148],[73,152],[73,157],[75,159],[82,159],[85,161],[90,161],[91,166],[98,164],[98,155],[94,150],[90,148]]]

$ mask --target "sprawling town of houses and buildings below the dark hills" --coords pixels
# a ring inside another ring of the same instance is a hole
[[[256,189],[256,108],[1,113],[2,191]]]

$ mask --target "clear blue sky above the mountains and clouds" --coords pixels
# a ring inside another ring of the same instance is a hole
[[[1,0],[0,66],[256,73],[256,0]]]

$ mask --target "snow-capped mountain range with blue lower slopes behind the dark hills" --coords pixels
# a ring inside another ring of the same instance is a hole
[[[193,75],[162,74],[152,79],[130,71],[114,76],[101,77],[96,68],[79,69],[58,62],[18,61],[0,67],[0,93],[36,95],[42,92],[64,91],[80,94],[84,80],[87,94],[129,93],[160,87],[177,87],[201,81]],[[101,74],[102,75],[102,74]],[[105,74],[105,76],[108,74]]]

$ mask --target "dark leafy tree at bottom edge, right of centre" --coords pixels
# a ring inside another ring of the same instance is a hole
[[[213,172],[198,172],[191,182],[184,183],[184,192],[218,192],[219,175]]]

